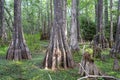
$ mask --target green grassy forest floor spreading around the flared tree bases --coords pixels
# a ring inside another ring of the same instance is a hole
[[[80,78],[78,67],[67,70],[58,70],[55,72],[42,69],[42,62],[48,41],[40,41],[39,38],[39,34],[25,35],[27,45],[32,54],[31,60],[5,60],[8,45],[0,46],[0,80],[77,80]],[[80,47],[82,48],[83,45]],[[73,54],[76,63],[80,62],[81,53],[82,51]],[[113,59],[108,56],[109,49],[103,50],[102,55],[105,56],[103,61],[95,59],[97,67],[109,76],[120,78],[120,72],[112,70]]]

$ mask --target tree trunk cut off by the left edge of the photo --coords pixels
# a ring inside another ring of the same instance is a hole
[[[4,0],[0,0],[0,39],[6,40],[7,35],[5,32],[5,16],[4,16]]]

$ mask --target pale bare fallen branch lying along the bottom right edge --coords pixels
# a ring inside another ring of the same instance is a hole
[[[117,79],[113,76],[99,76],[99,75],[87,75],[87,76],[84,76],[84,77],[81,77],[77,80],[83,80],[83,79],[87,79],[87,78],[108,78],[108,79],[113,79],[113,80],[120,80],[120,79]]]

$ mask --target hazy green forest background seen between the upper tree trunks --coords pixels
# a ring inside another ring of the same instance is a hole
[[[5,1],[5,25],[6,31],[12,32],[13,25],[13,16],[14,16],[14,4],[13,0]],[[96,30],[96,15],[95,15],[95,2],[90,0],[79,1],[79,21],[80,21],[80,31],[82,38],[84,40],[92,40],[95,35]],[[70,30],[71,22],[71,0],[67,0],[67,27]],[[52,6],[52,18],[53,18],[53,4],[50,0],[23,0],[21,4],[22,8],[22,26],[24,33],[34,34],[42,32],[43,27],[49,26],[51,21],[51,6]],[[105,27],[106,37],[109,39],[110,35],[110,1],[107,1],[107,4],[104,1],[104,11],[103,11],[103,25],[105,25],[105,7],[107,6],[107,26]],[[114,33],[117,26],[117,9],[118,9],[118,0],[113,0],[112,16],[113,16],[113,26]],[[10,34],[9,34],[10,35]],[[87,36],[89,35],[89,36]],[[114,34],[115,35],[115,34]],[[86,37],[87,36],[87,37]]]

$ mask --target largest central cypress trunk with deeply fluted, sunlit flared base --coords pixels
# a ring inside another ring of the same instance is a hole
[[[72,68],[73,59],[66,40],[63,26],[63,0],[54,0],[54,25],[51,30],[51,37],[43,67],[45,69]]]

